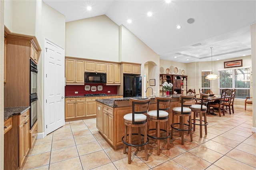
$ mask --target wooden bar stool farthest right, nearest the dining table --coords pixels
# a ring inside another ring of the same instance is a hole
[[[205,134],[207,134],[207,121],[206,121],[206,112],[207,112],[207,103],[208,103],[209,94],[201,94],[200,99],[196,99],[196,105],[190,106],[192,112],[194,112],[194,119],[192,119],[192,124],[194,125],[194,131],[196,125],[200,126],[200,137],[202,138],[202,126],[204,126]],[[200,103],[200,104],[199,104]],[[199,113],[200,119],[196,119],[196,114]],[[202,120],[202,116],[204,115],[204,120]],[[200,124],[196,123],[196,121],[200,121]],[[204,124],[202,124],[204,122]]]

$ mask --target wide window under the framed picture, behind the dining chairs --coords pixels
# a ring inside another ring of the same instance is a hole
[[[219,71],[220,93],[222,89],[236,89],[238,98],[250,96],[250,68],[229,69]]]

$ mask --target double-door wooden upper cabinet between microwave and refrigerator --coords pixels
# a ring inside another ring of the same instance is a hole
[[[107,84],[120,85],[120,64],[107,63]]]

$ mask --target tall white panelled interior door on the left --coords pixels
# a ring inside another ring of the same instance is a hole
[[[64,49],[45,40],[44,51],[44,127],[45,136],[65,125]]]

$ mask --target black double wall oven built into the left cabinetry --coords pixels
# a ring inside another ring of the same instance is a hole
[[[37,65],[30,59],[30,129],[37,121]]]

